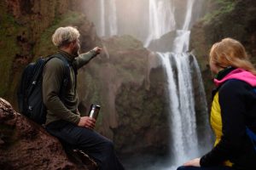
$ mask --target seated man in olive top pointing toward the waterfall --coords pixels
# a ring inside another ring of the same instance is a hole
[[[79,36],[79,31],[72,26],[60,27],[52,36],[52,42],[59,49],[55,55],[59,57],[50,59],[43,72],[46,130],[93,157],[101,170],[122,170],[124,167],[115,155],[112,141],[93,130],[94,118],[80,116],[78,111],[77,70],[102,50],[96,47],[79,54]]]

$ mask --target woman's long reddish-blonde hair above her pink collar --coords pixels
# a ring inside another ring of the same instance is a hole
[[[210,51],[210,63],[225,68],[233,66],[250,71],[256,75],[253,64],[248,59],[247,53],[241,42],[230,37],[224,38],[221,42],[212,45]]]

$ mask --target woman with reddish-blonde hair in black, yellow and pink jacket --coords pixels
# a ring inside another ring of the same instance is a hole
[[[256,71],[245,48],[232,38],[213,44],[210,68],[216,85],[211,110],[215,144],[177,169],[256,169]]]

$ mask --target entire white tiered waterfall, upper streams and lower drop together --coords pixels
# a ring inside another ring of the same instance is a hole
[[[128,1],[123,0],[124,3]],[[140,0],[140,10],[146,11],[138,14],[137,17],[145,16],[148,14],[147,21],[142,22],[145,17],[138,20],[141,23],[147,23],[146,26],[141,26],[137,23],[137,27],[132,28],[121,27],[118,25],[119,20],[126,20],[125,18],[118,18],[117,14],[122,14],[123,8],[117,8],[120,2],[115,0],[98,0],[99,7],[101,8],[101,18],[97,19],[101,31],[101,36],[113,36],[121,34],[131,34],[134,37],[143,37],[142,41],[145,47],[148,47],[150,42],[160,39],[168,32],[172,32],[175,37],[172,39],[172,46],[169,52],[160,53],[156,51],[156,54],[160,56],[161,63],[166,69],[166,78],[168,83],[168,98],[169,98],[169,114],[170,114],[170,161],[172,165],[167,167],[150,167],[148,169],[176,169],[184,161],[188,161],[191,158],[199,156],[200,147],[197,134],[197,123],[195,114],[195,80],[198,82],[197,86],[200,90],[199,94],[202,99],[201,105],[204,105],[202,115],[207,115],[207,102],[204,93],[204,87],[201,80],[201,71],[195,59],[195,56],[187,53],[189,50],[189,28],[199,17],[200,14],[196,14],[198,3],[202,3],[203,0]],[[133,8],[137,7],[137,0],[130,0],[129,3],[134,3]],[[147,5],[148,4],[148,9]],[[183,12],[177,11],[177,6],[182,6]],[[128,14],[131,14],[131,9],[128,8]],[[195,10],[194,10],[195,9]],[[120,12],[121,11],[121,12]],[[133,11],[134,12],[134,11]],[[121,15],[119,15],[120,17]],[[108,19],[108,20],[106,20]],[[133,21],[133,18],[130,18]],[[128,22],[128,20],[127,20]],[[131,23],[130,23],[131,25]],[[134,25],[131,25],[134,26]],[[143,29],[143,31],[135,31]],[[147,30],[148,29],[148,30]],[[125,31],[131,32],[125,32]],[[139,33],[138,33],[139,32]],[[142,32],[146,35],[140,35]],[[207,117],[204,118],[207,120]],[[205,121],[207,122],[207,121]],[[206,133],[208,127],[201,133]]]

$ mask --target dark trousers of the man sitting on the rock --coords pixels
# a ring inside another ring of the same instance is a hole
[[[94,130],[65,121],[51,122],[46,130],[61,142],[83,150],[94,158],[100,170],[124,169],[114,152],[113,142]]]

